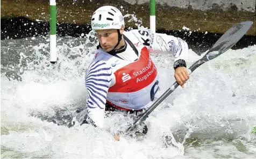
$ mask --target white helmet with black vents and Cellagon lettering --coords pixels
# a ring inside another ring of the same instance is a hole
[[[120,29],[122,25],[124,25],[124,17],[114,6],[102,6],[91,17],[93,30]]]

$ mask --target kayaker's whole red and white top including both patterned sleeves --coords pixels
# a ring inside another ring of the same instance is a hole
[[[99,127],[104,125],[105,103],[123,110],[141,110],[152,104],[159,78],[150,52],[172,53],[174,62],[188,61],[188,45],[180,38],[150,30],[124,35],[130,42],[125,42],[127,46],[118,57],[98,49],[87,70],[87,113]]]

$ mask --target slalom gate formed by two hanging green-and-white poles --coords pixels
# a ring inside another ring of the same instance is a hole
[[[56,1],[50,0],[50,62],[56,62]],[[150,0],[150,29],[155,32],[155,0]]]

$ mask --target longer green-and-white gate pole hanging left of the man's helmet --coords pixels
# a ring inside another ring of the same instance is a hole
[[[56,1],[50,0],[50,62],[56,62]]]

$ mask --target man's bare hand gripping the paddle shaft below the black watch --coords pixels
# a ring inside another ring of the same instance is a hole
[[[184,83],[189,79],[189,73],[186,67],[178,67],[175,69],[174,75],[176,82],[184,88]]]

